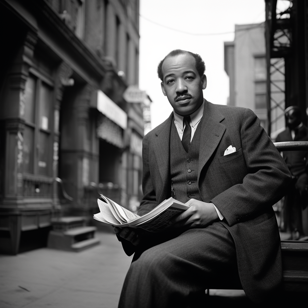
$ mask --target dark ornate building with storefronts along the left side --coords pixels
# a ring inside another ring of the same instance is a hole
[[[91,221],[98,192],[139,205],[139,0],[0,0],[0,24],[0,249],[17,253],[55,215]]]

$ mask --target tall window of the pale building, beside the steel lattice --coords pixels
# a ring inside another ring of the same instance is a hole
[[[256,109],[266,109],[266,74],[265,57],[256,57],[254,59]]]

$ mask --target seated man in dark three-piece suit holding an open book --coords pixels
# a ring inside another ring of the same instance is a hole
[[[144,137],[138,214],[172,191],[190,209],[163,235],[115,228],[126,252],[136,251],[119,307],[200,306],[206,288],[240,285],[262,302],[282,280],[272,205],[290,172],[251,110],[203,98],[204,71],[199,55],[182,50],[158,66],[173,112]]]

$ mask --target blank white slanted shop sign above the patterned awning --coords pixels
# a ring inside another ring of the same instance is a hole
[[[127,128],[127,114],[116,103],[114,103],[103,91],[97,90],[96,106],[98,111],[119,125]]]

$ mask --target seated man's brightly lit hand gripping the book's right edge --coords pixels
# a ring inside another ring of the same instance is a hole
[[[219,219],[213,203],[190,199],[186,202],[186,205],[190,206],[190,208],[173,218],[169,222],[172,224],[171,227],[205,228],[211,222]]]

